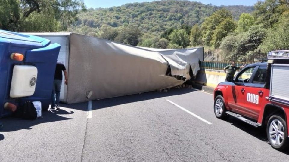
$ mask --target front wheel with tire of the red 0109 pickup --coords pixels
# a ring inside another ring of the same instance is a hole
[[[228,117],[228,115],[226,114],[225,101],[224,101],[223,96],[221,95],[218,95],[215,98],[214,113],[215,113],[215,116],[219,119],[225,119]]]

